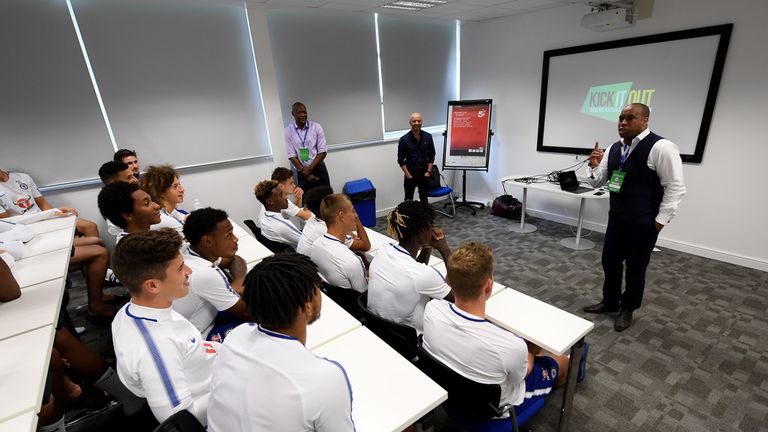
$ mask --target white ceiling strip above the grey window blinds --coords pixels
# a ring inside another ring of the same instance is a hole
[[[418,12],[382,8],[393,0],[246,0],[259,9],[317,9],[325,11],[378,12],[387,15],[431,17],[447,20],[484,21],[541,9],[585,4],[586,0],[448,0]]]

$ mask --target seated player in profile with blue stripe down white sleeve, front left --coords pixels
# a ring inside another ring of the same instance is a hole
[[[213,361],[219,344],[205,342],[171,308],[187,295],[189,275],[172,229],[124,237],[113,267],[131,294],[112,322],[117,373],[136,396],[147,399],[157,421],[186,409],[205,425]]]

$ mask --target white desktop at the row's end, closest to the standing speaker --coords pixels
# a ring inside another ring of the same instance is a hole
[[[485,316],[554,354],[563,355],[595,324],[513,289],[488,299]]]

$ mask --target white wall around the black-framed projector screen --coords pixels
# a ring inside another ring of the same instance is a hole
[[[463,25],[461,96],[493,98],[495,105],[492,167],[487,174],[469,175],[470,194],[485,201],[501,193],[503,176],[546,173],[574,163],[573,156],[536,151],[543,51],[733,23],[704,159],[684,165],[688,193],[659,245],[768,271],[768,193],[761,175],[768,145],[760,136],[765,118],[758,107],[768,99],[768,2],[657,1],[651,18],[606,33],[580,27],[586,12],[575,5]],[[522,195],[515,186],[507,188]],[[539,216],[575,224],[575,200],[531,193],[529,203]],[[607,200],[590,203],[585,226],[604,231],[607,210]]]

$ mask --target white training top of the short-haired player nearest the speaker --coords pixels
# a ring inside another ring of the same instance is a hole
[[[513,333],[451,302],[432,300],[424,310],[424,348],[466,378],[500,384],[501,404],[523,402],[528,347]]]

